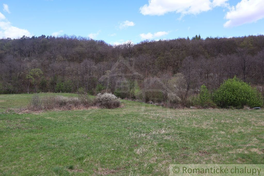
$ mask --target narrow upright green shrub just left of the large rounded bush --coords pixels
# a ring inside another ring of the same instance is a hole
[[[200,94],[197,98],[192,99],[192,104],[203,108],[216,107],[216,104],[213,102],[212,96],[205,85],[201,85]]]

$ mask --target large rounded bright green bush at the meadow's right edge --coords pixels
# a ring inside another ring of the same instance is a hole
[[[223,108],[258,107],[263,105],[261,94],[249,84],[234,77],[225,80],[214,93],[214,102]]]

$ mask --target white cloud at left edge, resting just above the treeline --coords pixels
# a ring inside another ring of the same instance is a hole
[[[0,37],[6,38],[17,38],[25,36],[31,36],[30,32],[26,29],[21,29],[15,26],[12,26],[6,17],[0,12]]]

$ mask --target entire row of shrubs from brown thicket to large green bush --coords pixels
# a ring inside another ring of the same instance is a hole
[[[156,80],[156,78],[153,80]],[[176,79],[174,81],[177,82]],[[78,89],[78,98],[56,96],[40,99],[35,96],[32,98],[29,108],[32,110],[72,109],[90,106],[116,108],[120,107],[119,97],[130,97],[133,99],[140,99],[145,102],[163,102],[164,106],[168,107],[196,106],[200,108],[244,108],[248,106],[249,108],[252,108],[263,106],[263,97],[261,93],[236,77],[225,80],[214,92],[209,92],[206,86],[202,85],[199,90],[200,93],[195,98],[188,98],[185,96],[187,90],[182,87],[171,86],[169,90],[160,90],[158,88],[141,90],[136,81],[127,81],[126,83],[129,83],[129,87],[124,86],[124,82],[125,81],[123,81],[122,85],[114,91],[114,94],[107,93],[111,90],[106,89],[102,84],[98,84],[96,92],[101,93],[98,93],[95,99],[92,99],[91,96],[87,94],[87,91],[82,87]],[[154,83],[156,84],[159,82],[156,81]],[[154,83],[153,86],[155,85]],[[146,82],[146,85],[148,85],[148,82]],[[173,82],[172,85],[175,85],[175,83]],[[164,91],[167,91],[167,94],[164,94]],[[165,100],[164,96],[167,97]]]

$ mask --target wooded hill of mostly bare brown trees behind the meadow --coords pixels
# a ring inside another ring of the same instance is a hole
[[[264,36],[196,36],[118,46],[66,35],[0,40],[0,93],[95,91],[99,83],[114,91],[120,82],[138,79],[124,73],[140,75],[141,88],[149,79],[179,74],[190,90],[201,84],[214,89],[235,75],[263,86]],[[118,75],[111,84],[105,81],[110,75]]]

